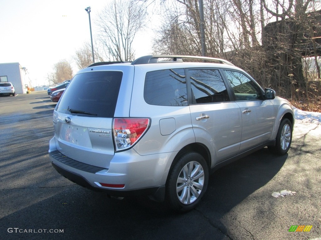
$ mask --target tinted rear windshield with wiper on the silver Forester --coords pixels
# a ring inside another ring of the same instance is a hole
[[[74,76],[56,111],[91,117],[114,117],[123,73],[87,72]]]

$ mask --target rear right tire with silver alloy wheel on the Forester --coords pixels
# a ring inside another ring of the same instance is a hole
[[[199,203],[208,184],[208,166],[203,156],[187,152],[172,166],[166,182],[166,201],[177,212],[187,212]]]

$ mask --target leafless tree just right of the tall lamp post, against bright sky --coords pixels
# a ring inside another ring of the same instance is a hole
[[[136,33],[145,26],[145,2],[114,0],[99,15],[100,42],[111,61],[132,61],[132,43]]]

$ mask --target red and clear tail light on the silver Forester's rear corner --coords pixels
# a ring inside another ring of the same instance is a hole
[[[115,118],[113,133],[116,151],[132,147],[147,131],[149,118]]]

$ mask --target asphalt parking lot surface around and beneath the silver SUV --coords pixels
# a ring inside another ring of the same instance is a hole
[[[201,204],[179,215],[59,175],[48,158],[55,106],[47,91],[0,97],[1,239],[321,239],[320,124],[295,127],[285,156],[263,148],[214,172]],[[282,190],[296,193],[271,196]],[[297,225],[312,227],[289,232]]]

